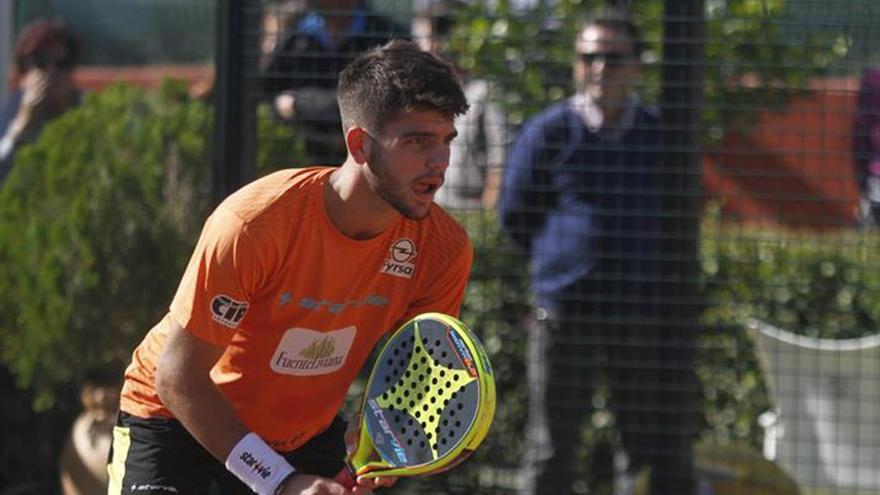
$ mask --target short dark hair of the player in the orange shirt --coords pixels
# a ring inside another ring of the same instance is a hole
[[[392,40],[354,59],[339,74],[343,131],[379,132],[399,112],[434,110],[449,118],[468,109],[455,68],[412,41]]]

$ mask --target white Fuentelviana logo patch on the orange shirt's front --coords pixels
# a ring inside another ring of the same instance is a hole
[[[291,328],[281,337],[270,366],[282,375],[333,373],[345,364],[356,334],[353,325],[330,332]]]

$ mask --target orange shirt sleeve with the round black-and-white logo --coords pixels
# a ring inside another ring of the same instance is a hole
[[[265,254],[244,222],[221,205],[201,237],[171,303],[171,316],[200,339],[225,347],[262,284]]]

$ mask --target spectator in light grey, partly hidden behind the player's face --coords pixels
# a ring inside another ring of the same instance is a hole
[[[429,0],[412,22],[412,35],[423,50],[447,59],[457,0]],[[462,74],[470,110],[455,119],[458,137],[446,180],[436,201],[447,209],[494,208],[501,182],[501,169],[508,144],[507,119],[492,100],[493,85]]]

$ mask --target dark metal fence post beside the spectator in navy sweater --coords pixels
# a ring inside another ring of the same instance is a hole
[[[695,439],[699,427],[699,393],[696,350],[701,309],[699,292],[699,232],[701,198],[700,115],[703,91],[703,0],[665,0],[663,18],[661,111],[663,118],[663,335],[658,336],[675,354],[676,366],[665,379],[679,387],[677,424],[679,441]],[[688,466],[694,481],[693,453],[684,443],[673,447],[677,459]],[[683,475],[685,473],[682,473]],[[684,480],[683,480],[684,481]],[[690,493],[681,487],[679,493]]]

